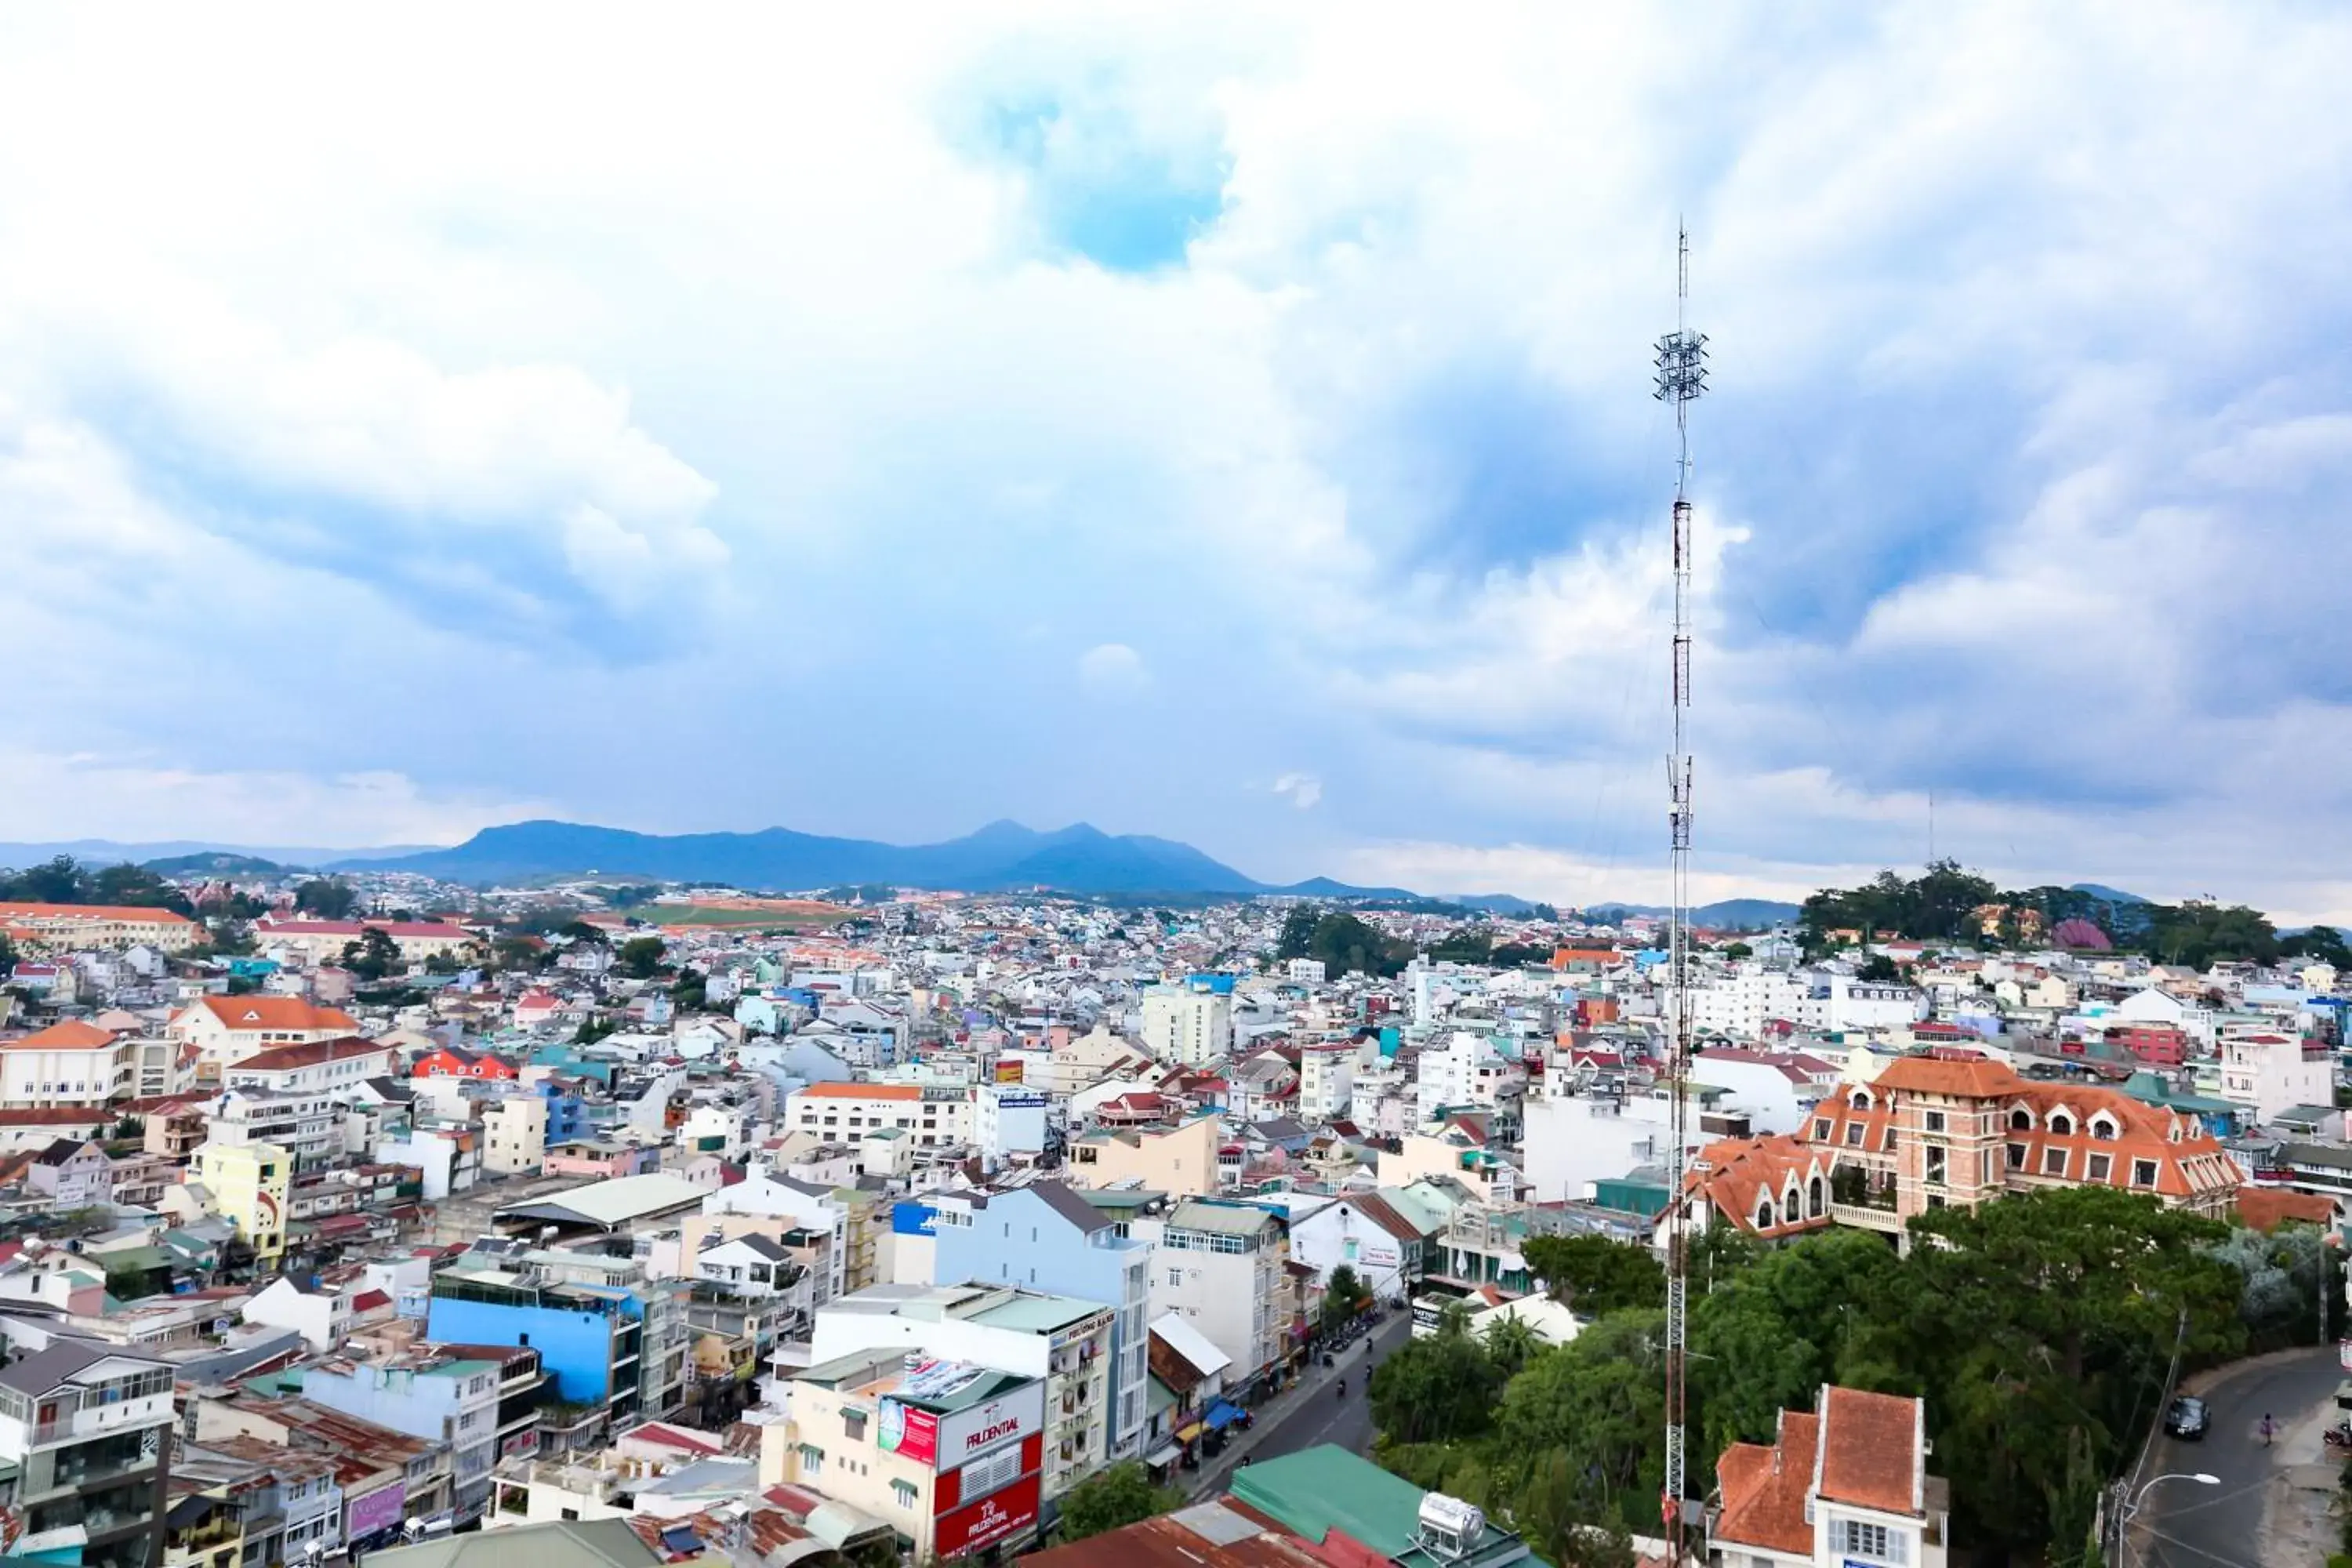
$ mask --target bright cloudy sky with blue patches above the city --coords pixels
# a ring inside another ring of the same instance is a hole
[[[2352,12],[0,21],[0,839],[2352,919]]]

